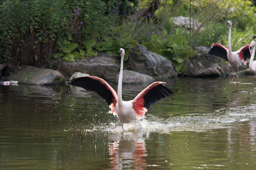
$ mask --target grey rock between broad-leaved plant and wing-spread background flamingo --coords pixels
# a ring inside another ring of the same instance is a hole
[[[194,48],[196,55],[184,61],[185,71],[182,75],[204,76],[204,75],[228,75],[229,66],[225,61],[215,55],[207,54],[210,48]]]

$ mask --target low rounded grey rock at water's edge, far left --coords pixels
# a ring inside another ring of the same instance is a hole
[[[27,76],[27,81],[24,78]],[[46,85],[46,84],[62,84],[65,83],[63,75],[52,69],[41,69],[34,66],[26,66],[18,73],[8,77],[3,77],[3,80],[15,80],[19,83]]]

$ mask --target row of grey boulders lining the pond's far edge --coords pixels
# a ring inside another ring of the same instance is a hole
[[[223,59],[207,54],[210,48],[195,47],[196,55],[184,62],[185,71],[181,76],[206,76],[206,75],[229,75],[232,72],[228,63]],[[138,46],[132,48],[126,61],[123,83],[146,83],[155,79],[171,78],[178,76],[169,60],[159,54]],[[57,70],[41,69],[33,66],[24,66],[18,73],[2,80],[16,80],[19,83],[48,85],[63,84],[67,80],[79,76],[98,76],[105,80],[118,81],[120,65],[116,62],[117,57],[106,53],[99,53],[95,57],[75,59],[75,62],[62,60],[58,63]],[[0,74],[6,66],[0,65]],[[248,66],[240,66],[239,70],[246,70]],[[248,71],[244,71],[250,74]],[[75,74],[75,75],[74,75]],[[24,82],[25,78],[27,81]]]

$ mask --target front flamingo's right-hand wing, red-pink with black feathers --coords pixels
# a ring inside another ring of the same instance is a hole
[[[164,82],[155,82],[147,86],[146,89],[140,92],[132,101],[132,108],[137,116],[144,117],[145,112],[155,102],[170,96],[173,94],[168,87],[164,85]]]

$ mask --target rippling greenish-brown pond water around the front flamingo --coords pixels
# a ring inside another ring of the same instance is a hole
[[[256,78],[231,80],[161,80],[174,94],[124,131],[94,92],[0,86],[0,169],[255,169]],[[147,85],[123,85],[123,99]]]

